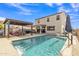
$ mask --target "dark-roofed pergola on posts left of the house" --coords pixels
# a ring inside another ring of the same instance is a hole
[[[33,23],[31,22],[25,22],[25,21],[6,18],[6,20],[4,21],[4,36],[7,36],[7,37],[10,36],[9,34],[10,24],[22,26],[22,35],[23,35],[23,26],[31,25],[31,30],[32,30],[32,25],[33,25]],[[31,35],[32,35],[32,32],[31,32]]]

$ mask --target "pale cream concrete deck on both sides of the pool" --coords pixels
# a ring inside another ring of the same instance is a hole
[[[11,44],[12,41],[40,36],[41,34],[35,35],[25,35],[20,37],[11,37],[11,38],[0,38],[0,56],[20,56],[16,49]],[[45,34],[42,34],[45,35]],[[76,41],[74,41],[76,42]],[[62,56],[72,56],[72,55],[79,55],[79,44],[74,44],[74,46],[70,45],[64,49],[62,52]]]

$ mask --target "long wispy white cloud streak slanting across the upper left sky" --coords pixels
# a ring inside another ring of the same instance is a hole
[[[7,4],[8,6],[13,6],[15,8],[17,8],[18,10],[20,10],[19,14],[24,14],[24,15],[32,15],[32,10],[30,9],[27,9],[27,8],[24,8],[22,5],[23,4],[16,4],[16,3],[10,3],[10,4]]]

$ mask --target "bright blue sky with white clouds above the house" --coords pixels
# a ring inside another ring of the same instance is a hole
[[[65,11],[70,15],[73,29],[79,28],[79,3],[0,3],[0,18],[28,22]]]

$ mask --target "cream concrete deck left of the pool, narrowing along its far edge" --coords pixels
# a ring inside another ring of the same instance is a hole
[[[14,40],[19,40],[23,38],[29,38],[34,36],[41,36],[45,34],[36,34],[36,35],[25,35],[20,37],[11,37],[11,38],[0,38],[0,56],[20,56],[18,51],[11,44]]]

